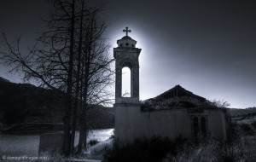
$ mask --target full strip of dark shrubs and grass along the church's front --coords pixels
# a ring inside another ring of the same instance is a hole
[[[247,127],[247,126],[245,126]],[[211,136],[195,141],[154,137],[125,144],[116,140],[107,148],[104,158],[111,162],[183,162],[183,161],[255,161],[256,138],[237,136],[230,142],[219,142]]]

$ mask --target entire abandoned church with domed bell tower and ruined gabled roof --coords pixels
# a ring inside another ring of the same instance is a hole
[[[123,142],[153,136],[198,138],[212,136],[226,140],[229,109],[216,107],[207,99],[195,95],[182,86],[146,101],[139,100],[139,55],[136,40],[128,36],[117,41],[113,49],[115,58],[115,137]],[[131,97],[122,96],[122,69],[131,70]]]

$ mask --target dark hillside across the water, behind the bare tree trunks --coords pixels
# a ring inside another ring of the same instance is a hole
[[[4,125],[62,124],[64,101],[64,96],[55,90],[0,78],[0,123]],[[92,108],[88,118],[94,129],[113,128],[113,107]]]

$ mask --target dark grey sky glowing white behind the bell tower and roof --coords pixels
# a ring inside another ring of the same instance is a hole
[[[140,55],[140,99],[160,95],[180,84],[207,100],[230,107],[256,106],[255,1],[94,0],[105,4],[106,38],[116,41],[131,29]],[[0,1],[0,32],[33,43],[44,30],[40,15],[46,0]],[[25,49],[24,49],[25,50]],[[112,50],[113,51],[113,50]],[[0,66],[0,77],[21,82]]]

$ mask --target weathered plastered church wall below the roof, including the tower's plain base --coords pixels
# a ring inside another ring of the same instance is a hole
[[[193,137],[193,117],[207,118],[207,135],[226,140],[226,120],[221,109],[205,109],[191,113],[187,108],[142,111],[139,104],[115,105],[115,136],[122,141],[132,142],[136,138],[168,136]]]

